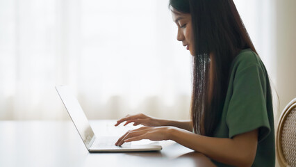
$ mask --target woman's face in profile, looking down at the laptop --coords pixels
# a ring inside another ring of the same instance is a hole
[[[173,21],[178,26],[178,33],[176,40],[183,43],[183,46],[190,51],[190,54],[194,55],[194,47],[192,41],[192,26],[191,26],[191,15],[189,13],[179,13],[172,9]]]

